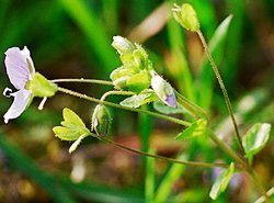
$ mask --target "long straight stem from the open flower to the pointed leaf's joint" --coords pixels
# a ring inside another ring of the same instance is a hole
[[[102,103],[104,105],[110,105],[110,106],[113,106],[113,108],[127,110],[127,111],[132,111],[132,112],[146,113],[148,115],[160,117],[160,119],[163,119],[163,120],[167,120],[167,121],[180,124],[180,125],[184,125],[184,126],[190,126],[191,125],[191,123],[189,123],[186,121],[175,119],[175,117],[170,117],[170,116],[167,116],[167,115],[162,115],[162,114],[159,114],[159,113],[156,113],[156,112],[150,112],[150,111],[146,111],[146,110],[141,110],[141,109],[127,108],[127,106],[123,106],[123,105],[112,103],[112,102],[109,102],[109,101],[101,101],[101,100],[99,100],[96,98],[92,98],[92,97],[89,97],[89,95],[85,95],[85,94],[82,94],[82,93],[79,93],[79,92],[75,92],[72,90],[68,90],[68,89],[65,89],[65,88],[61,88],[61,87],[58,87],[58,91],[70,94],[70,95],[73,95],[73,97],[78,97],[78,98],[81,98],[81,99],[84,99],[84,100],[88,100],[88,101],[91,101],[91,102]]]

